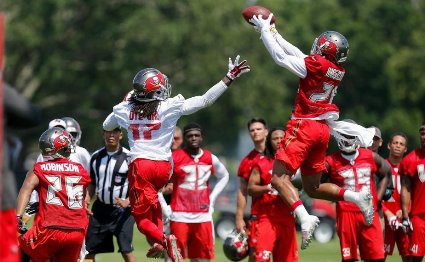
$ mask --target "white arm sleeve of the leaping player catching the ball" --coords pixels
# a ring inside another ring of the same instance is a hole
[[[267,51],[269,51],[276,64],[288,69],[290,72],[300,78],[305,78],[307,76],[307,68],[305,66],[304,57],[301,58],[295,55],[287,54],[273,37],[273,34],[270,32],[270,30],[262,30],[261,39],[263,40],[264,46],[266,47]]]

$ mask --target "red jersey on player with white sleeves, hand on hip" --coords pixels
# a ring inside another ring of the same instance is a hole
[[[210,207],[209,178],[214,174],[212,154],[202,149],[199,158],[186,150],[172,153],[174,162],[171,209],[176,212],[207,213]]]

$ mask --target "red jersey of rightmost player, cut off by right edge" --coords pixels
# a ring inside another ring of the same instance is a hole
[[[412,179],[411,214],[425,214],[425,151],[416,148],[400,163],[399,174]]]

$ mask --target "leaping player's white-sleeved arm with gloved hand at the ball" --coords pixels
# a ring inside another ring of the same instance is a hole
[[[261,39],[263,40],[264,46],[267,48],[267,51],[269,51],[276,64],[288,69],[300,78],[305,78],[307,76],[307,69],[304,62],[305,56],[302,56],[299,52],[290,48],[290,46],[286,45],[286,43],[281,42],[280,44],[286,47],[289,50],[289,53],[295,52],[296,55],[291,55],[285,52],[285,49],[273,37],[272,30],[275,30],[275,28],[270,24],[272,16],[273,14],[270,14],[267,19],[263,19],[261,15],[258,17],[253,16],[252,18],[252,22],[261,32]]]

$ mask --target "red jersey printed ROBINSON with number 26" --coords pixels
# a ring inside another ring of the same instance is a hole
[[[37,162],[34,174],[39,179],[36,188],[40,198],[38,224],[42,227],[86,229],[85,209],[90,174],[77,162],[56,159]]]

